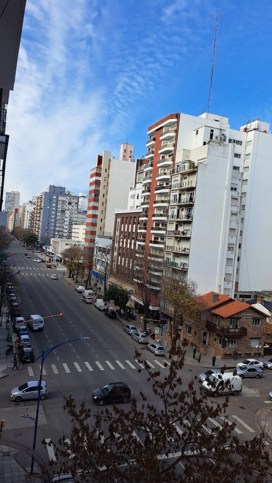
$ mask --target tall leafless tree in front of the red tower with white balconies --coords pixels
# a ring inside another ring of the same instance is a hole
[[[134,260],[134,280],[143,303],[144,330],[146,330],[150,303],[161,289],[162,266],[162,258],[157,250],[145,247],[137,251]]]

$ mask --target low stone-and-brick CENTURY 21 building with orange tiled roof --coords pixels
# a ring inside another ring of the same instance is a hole
[[[217,357],[263,356],[266,317],[249,304],[216,292],[200,296],[204,310],[197,321],[185,318],[182,335],[205,354],[207,346]],[[258,347],[256,347],[258,346]]]

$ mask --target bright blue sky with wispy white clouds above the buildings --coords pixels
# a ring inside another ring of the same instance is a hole
[[[211,112],[270,123],[270,0],[27,0],[5,190],[87,192],[104,149],[141,157],[150,124],[205,111],[219,8]]]

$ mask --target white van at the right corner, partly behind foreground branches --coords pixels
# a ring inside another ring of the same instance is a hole
[[[220,377],[220,378],[219,378]],[[213,387],[209,381],[213,382]],[[233,394],[237,396],[242,390],[242,380],[240,376],[233,376],[232,372],[225,372],[224,374],[211,374],[209,381],[202,382],[202,387],[205,393],[210,396],[218,397],[219,394]]]

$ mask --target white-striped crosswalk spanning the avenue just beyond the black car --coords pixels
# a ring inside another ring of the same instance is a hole
[[[167,369],[170,366],[169,360],[166,359],[151,359],[147,360],[146,362],[148,366],[151,369]],[[59,365],[56,364],[44,364],[43,366],[43,375],[46,376],[47,374],[54,373],[54,374],[64,374],[64,373],[71,373],[72,371],[77,371],[77,372],[83,372],[83,371],[95,371],[95,370],[100,370],[100,371],[105,371],[105,370],[111,370],[115,371],[117,369],[139,369],[142,368],[144,369],[144,366],[141,363],[138,363],[137,360],[130,361],[128,359],[123,360],[122,362],[120,360],[95,360],[91,364],[86,360],[84,362],[78,363],[78,362],[70,362],[69,365],[67,363],[59,363]],[[41,370],[41,366],[39,366]],[[34,366],[30,365],[27,366],[27,371],[29,376],[34,376]]]

